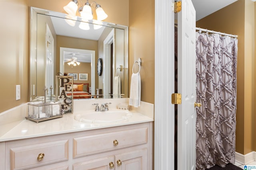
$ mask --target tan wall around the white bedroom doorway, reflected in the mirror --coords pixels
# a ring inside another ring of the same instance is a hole
[[[98,41],[95,41],[95,40],[88,40],[88,39],[73,38],[73,37],[57,35],[57,49],[56,49],[57,56],[60,56],[60,47],[93,50],[93,51],[95,51],[95,60],[98,59]],[[59,72],[59,70],[60,70],[60,58],[59,57],[57,57],[56,63],[57,63],[56,70],[57,70],[57,72]],[[66,72],[66,68],[64,70]],[[76,72],[74,72],[74,73],[76,73]],[[83,72],[80,72],[80,73],[83,73]],[[86,72],[84,72],[84,73],[86,73]],[[91,84],[91,80],[90,80],[90,84]],[[95,78],[95,89],[96,88],[98,88],[98,75],[96,75],[96,78]]]

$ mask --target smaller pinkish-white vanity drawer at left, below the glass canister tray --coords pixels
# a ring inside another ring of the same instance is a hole
[[[44,155],[41,160],[38,160],[40,159],[39,154]],[[12,170],[33,168],[64,160],[68,160],[68,140],[32,144],[10,149]]]

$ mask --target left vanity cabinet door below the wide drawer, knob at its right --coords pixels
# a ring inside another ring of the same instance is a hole
[[[114,170],[114,156],[74,164],[73,170]]]

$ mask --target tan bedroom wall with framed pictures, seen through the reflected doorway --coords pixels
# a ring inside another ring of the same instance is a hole
[[[72,66],[64,63],[64,72],[67,73],[78,73],[77,80],[74,80],[74,83],[89,83],[89,87],[91,86],[91,63],[80,63],[79,66]],[[79,73],[88,74],[88,80],[79,80]]]

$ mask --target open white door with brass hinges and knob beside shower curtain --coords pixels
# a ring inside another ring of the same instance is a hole
[[[196,11],[182,0],[178,13],[178,170],[196,169]]]

